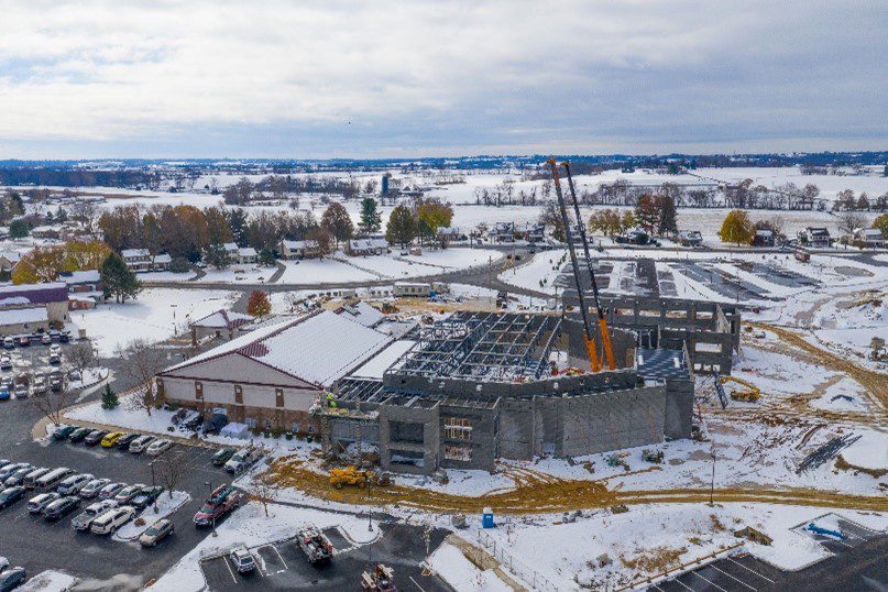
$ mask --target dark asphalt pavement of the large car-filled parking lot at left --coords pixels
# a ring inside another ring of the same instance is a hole
[[[0,458],[35,467],[69,467],[130,484],[151,484],[151,457],[83,443],[33,441],[31,427],[40,417],[41,413],[26,401],[0,402]],[[187,470],[176,490],[188,492],[191,500],[171,516],[176,531],[156,548],[142,549],[134,542],[77,533],[70,527],[70,516],[57,523],[35,518],[29,514],[25,498],[0,511],[2,555],[26,568],[29,574],[58,569],[84,578],[81,585],[94,590],[141,589],[209,534],[209,529],[195,528],[191,518],[212,487],[231,482],[228,473],[210,462],[213,450],[183,448]]]

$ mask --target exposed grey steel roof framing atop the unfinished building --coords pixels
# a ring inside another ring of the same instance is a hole
[[[561,317],[517,313],[457,313],[424,328],[417,346],[390,373],[428,379],[538,380]]]

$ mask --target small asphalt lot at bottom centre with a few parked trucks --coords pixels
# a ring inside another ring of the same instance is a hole
[[[297,525],[294,525],[294,528]],[[382,536],[370,545],[354,545],[338,528],[324,534],[336,548],[333,559],[327,563],[308,562],[294,539],[253,547],[257,569],[238,573],[227,556],[201,561],[200,567],[210,590],[359,590],[364,570],[377,562],[394,569],[398,590],[450,591],[435,575],[424,575],[419,563],[425,559],[425,531],[420,527],[384,524]],[[429,546],[434,550],[441,544],[446,530],[430,533]]]

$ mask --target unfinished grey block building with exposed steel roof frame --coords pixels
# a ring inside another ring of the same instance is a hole
[[[607,309],[634,310],[621,306]],[[386,470],[428,474],[490,470],[497,458],[574,457],[689,438],[699,362],[687,344],[712,333],[710,341],[726,344],[730,360],[739,319],[728,310],[728,320],[711,303],[656,306],[657,316],[614,319],[616,368],[596,373],[589,372],[575,309],[456,313],[340,380],[332,398],[315,409],[321,441],[337,456],[360,442],[379,452]],[[677,309],[687,313],[683,325]],[[562,368],[581,371],[553,373],[551,360],[559,355]]]

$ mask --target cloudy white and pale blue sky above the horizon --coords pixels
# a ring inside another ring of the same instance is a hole
[[[888,149],[888,1],[0,0],[0,158]]]

